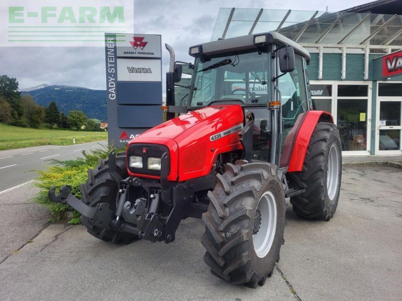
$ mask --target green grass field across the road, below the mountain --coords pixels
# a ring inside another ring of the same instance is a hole
[[[34,129],[0,123],[0,150],[38,145],[70,145],[91,141],[107,140],[108,132],[75,130]]]

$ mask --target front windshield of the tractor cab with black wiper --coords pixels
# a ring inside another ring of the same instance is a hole
[[[202,62],[195,60],[190,106],[207,106],[214,101],[237,100],[246,105],[268,101],[268,54],[235,54]]]

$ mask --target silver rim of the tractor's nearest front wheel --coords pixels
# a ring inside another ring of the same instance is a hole
[[[272,192],[265,192],[258,201],[257,210],[261,214],[258,232],[253,235],[254,251],[264,258],[272,247],[276,232],[276,200]]]

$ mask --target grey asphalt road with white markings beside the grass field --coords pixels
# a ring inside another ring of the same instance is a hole
[[[67,146],[43,145],[0,151],[0,192],[32,181],[38,176],[34,170],[43,170],[49,160],[69,160],[80,157],[81,151],[106,145],[106,141]]]

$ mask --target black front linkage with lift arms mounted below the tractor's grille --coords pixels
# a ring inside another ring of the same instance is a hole
[[[109,208],[108,203],[99,203],[96,207],[85,205],[71,194],[71,187],[68,185],[62,186],[57,195],[56,188],[52,187],[48,193],[49,199],[70,205],[86,216],[93,226],[132,233],[152,242],[172,242],[181,219],[201,218],[202,213],[207,211],[207,205],[193,202],[194,194],[214,189],[216,178],[208,175],[185,182],[169,182],[166,180],[169,168],[168,157],[168,154],[162,156],[161,181],[157,183],[138,177],[121,179],[116,172],[115,153],[112,151],[109,154],[109,173],[120,183],[115,212]],[[131,188],[138,187],[142,187],[147,192],[147,198],[131,197],[133,191]],[[161,203],[170,208],[165,216],[159,213]]]

